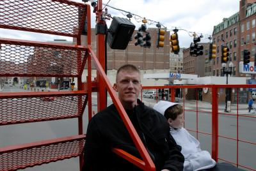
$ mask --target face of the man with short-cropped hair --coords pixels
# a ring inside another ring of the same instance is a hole
[[[113,88],[124,108],[133,108],[141,91],[140,74],[136,71],[120,71]]]

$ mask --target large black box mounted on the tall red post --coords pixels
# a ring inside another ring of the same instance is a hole
[[[124,50],[131,40],[135,25],[128,19],[113,17],[108,30],[110,48]]]

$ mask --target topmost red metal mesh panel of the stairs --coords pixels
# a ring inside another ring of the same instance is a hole
[[[66,0],[0,1],[0,28],[77,36],[86,5]]]

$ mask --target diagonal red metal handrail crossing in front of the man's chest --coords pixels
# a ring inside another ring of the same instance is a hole
[[[140,167],[143,170],[148,170],[148,171],[155,170],[156,168],[154,166],[152,159],[150,158],[147,150],[145,149],[145,146],[141,142],[141,139],[138,136],[138,133],[136,132],[127,113],[125,112],[124,107],[122,106],[122,103],[116,96],[116,93],[113,90],[113,87],[111,86],[105,71],[101,67],[101,65],[100,65],[97,57],[95,56],[95,54],[92,50],[92,47],[90,45],[88,45],[88,49],[89,49],[89,52],[91,53],[92,61],[95,65],[95,67],[97,68],[97,70],[99,71],[100,77],[102,77],[102,80],[104,80],[104,84],[106,85],[106,88],[108,89],[109,95],[111,96],[113,103],[116,106],[116,109],[118,110],[122,120],[124,121],[125,127],[129,131],[129,134],[131,135],[131,138],[132,138],[136,148],[140,152],[141,158],[143,158],[143,163],[141,162],[141,160],[136,160],[135,157],[127,156],[124,152],[121,152],[120,149],[113,149],[113,151],[116,152],[116,154],[122,156],[123,158],[126,158],[126,159],[130,158],[129,161],[131,161],[132,163],[134,163],[134,165]]]

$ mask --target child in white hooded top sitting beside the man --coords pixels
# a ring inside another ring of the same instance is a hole
[[[208,151],[202,151],[200,142],[182,127],[184,122],[182,106],[170,101],[159,101],[154,105],[154,109],[166,117],[172,137],[182,147],[181,152],[185,158],[184,170],[204,170],[216,165],[211,154]]]

